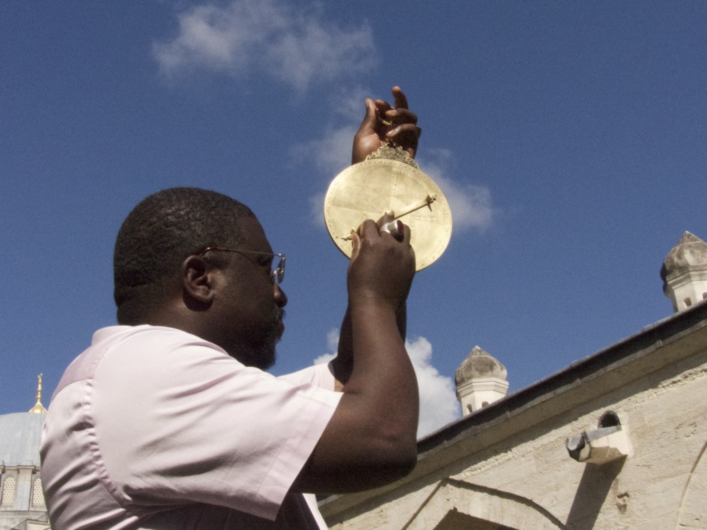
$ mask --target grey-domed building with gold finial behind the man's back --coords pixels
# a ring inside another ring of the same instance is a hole
[[[0,416],[0,530],[46,530],[49,518],[40,478],[40,436],[47,416],[37,403],[29,412]]]

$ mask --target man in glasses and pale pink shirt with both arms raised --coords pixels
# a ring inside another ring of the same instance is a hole
[[[416,117],[366,100],[352,160]],[[284,256],[247,206],[203,189],[149,196],[115,245],[119,326],[98,330],[49,406],[42,484],[54,530],[325,528],[312,496],[371,488],[416,461],[404,349],[409,228],[354,234],[349,303],[329,366],[275,378]],[[335,390],[340,391],[335,391]]]

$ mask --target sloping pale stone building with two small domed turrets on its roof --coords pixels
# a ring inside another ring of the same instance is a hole
[[[514,394],[474,348],[465,416],[411,475],[322,500],[330,529],[707,528],[707,244],[686,232],[661,276],[675,314]]]

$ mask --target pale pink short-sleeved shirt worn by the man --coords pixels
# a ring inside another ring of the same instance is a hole
[[[52,528],[325,528],[288,490],[339,403],[333,388],[327,365],[279,379],[177,329],[100,329],[47,413]]]

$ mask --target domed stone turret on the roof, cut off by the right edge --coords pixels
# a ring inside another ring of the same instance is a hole
[[[707,299],[707,243],[685,232],[665,257],[660,277],[675,312]]]

